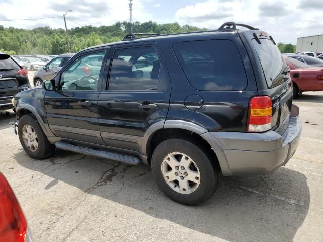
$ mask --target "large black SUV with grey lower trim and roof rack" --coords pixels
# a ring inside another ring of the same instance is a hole
[[[29,156],[57,147],[143,162],[167,196],[196,205],[221,174],[265,174],[286,164],[301,133],[292,95],[273,38],[230,22],[214,31],[131,33],[87,48],[14,103]]]

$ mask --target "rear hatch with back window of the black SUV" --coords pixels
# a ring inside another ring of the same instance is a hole
[[[252,39],[251,42],[260,59],[269,90],[268,95],[272,99],[271,127],[275,130],[283,123],[288,124],[287,117],[293,100],[292,83],[288,72],[289,67],[285,64],[274,40],[267,33],[258,33],[260,33],[259,37]]]

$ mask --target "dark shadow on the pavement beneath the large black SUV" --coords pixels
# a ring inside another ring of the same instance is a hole
[[[150,167],[143,164],[129,166],[63,150],[33,160],[20,149],[13,158],[53,178],[43,189],[62,181],[84,193],[228,241],[293,241],[310,203],[306,177],[285,167],[265,176],[224,177],[206,203],[188,207],[161,193]]]

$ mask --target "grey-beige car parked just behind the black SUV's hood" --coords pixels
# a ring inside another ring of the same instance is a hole
[[[35,72],[34,74],[35,87],[41,86],[42,82],[45,80],[52,79],[73,55],[74,54],[60,54],[58,57],[53,58],[50,62],[48,62],[37,72]]]

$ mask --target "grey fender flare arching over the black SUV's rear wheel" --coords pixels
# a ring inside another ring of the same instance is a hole
[[[197,124],[194,124],[192,122],[188,122],[188,121],[166,120],[165,122],[159,121],[159,122],[153,124],[152,126],[150,126],[147,129],[147,131],[142,139],[141,153],[144,155],[147,155],[147,145],[148,145],[149,141],[151,140],[153,134],[160,129],[167,129],[167,128],[177,128],[177,129],[189,130],[189,131],[192,131],[192,132],[200,135],[212,147],[213,152],[216,154],[222,174],[225,176],[231,175],[226,155],[225,155],[224,150],[222,149],[219,141],[217,140],[217,137],[212,135],[212,132],[208,132],[205,128],[203,128]]]

